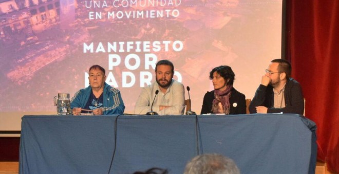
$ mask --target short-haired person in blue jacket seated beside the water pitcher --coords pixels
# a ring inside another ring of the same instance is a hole
[[[88,72],[89,86],[81,89],[71,99],[73,115],[92,113],[93,115],[122,114],[125,110],[120,91],[108,85],[105,69],[93,65]]]

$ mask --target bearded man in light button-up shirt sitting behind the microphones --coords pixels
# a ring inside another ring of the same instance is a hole
[[[154,100],[152,111],[159,115],[183,115],[185,91],[183,84],[173,79],[173,63],[169,60],[158,61],[155,73],[156,82],[142,90],[136,102],[134,113],[146,114],[151,111]],[[156,91],[159,93],[156,94]]]

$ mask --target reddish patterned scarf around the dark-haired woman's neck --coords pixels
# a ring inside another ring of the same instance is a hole
[[[214,100],[212,104],[212,112],[215,114],[230,114],[230,97],[231,97],[231,90],[233,85],[228,85],[225,91],[214,90]],[[219,102],[222,105],[223,113],[219,113]]]

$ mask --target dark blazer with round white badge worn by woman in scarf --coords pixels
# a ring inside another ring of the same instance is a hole
[[[232,88],[230,97],[230,115],[235,114],[246,114],[246,99],[245,95],[239,93],[237,90]],[[212,112],[212,103],[214,100],[214,90],[207,92],[203,97],[201,114],[214,114]]]

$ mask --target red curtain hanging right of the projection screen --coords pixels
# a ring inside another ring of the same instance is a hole
[[[287,0],[286,56],[317,125],[317,158],[339,172],[339,1]]]

